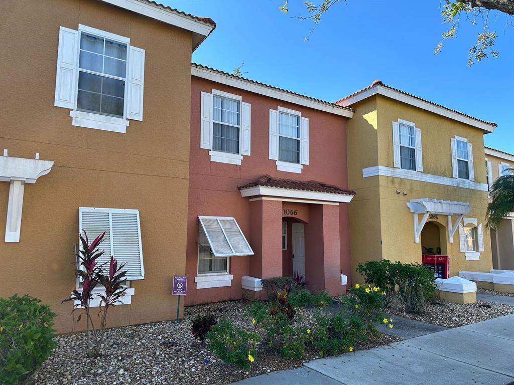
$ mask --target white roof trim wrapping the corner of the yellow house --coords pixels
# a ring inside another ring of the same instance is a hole
[[[358,93],[357,95],[355,95],[351,98],[345,99],[345,100],[341,101],[340,104],[344,107],[348,107],[354,103],[360,102],[361,100],[369,98],[375,94],[384,95],[385,97],[397,100],[402,103],[410,104],[414,107],[418,107],[418,108],[436,113],[438,115],[442,115],[446,118],[456,120],[457,122],[469,124],[470,126],[483,129],[484,131],[487,131],[487,132],[493,132],[496,128],[494,126],[491,126],[490,124],[479,122],[475,119],[465,117],[464,115],[461,115],[460,113],[449,111],[445,108],[435,106],[431,103],[425,102],[423,100],[419,100],[417,98],[411,97],[404,93],[401,93],[401,92],[398,92],[398,91],[395,91],[395,90],[392,90],[390,88],[383,87],[380,85],[376,85],[366,91],[362,91],[362,92]]]

